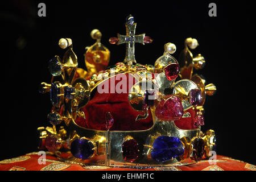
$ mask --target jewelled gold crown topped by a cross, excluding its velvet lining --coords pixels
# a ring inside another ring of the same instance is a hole
[[[135,43],[151,43],[152,39],[145,34],[135,35],[136,25],[134,17],[127,16],[126,35],[109,39],[111,44],[126,44],[123,63],[109,69],[106,67],[110,51],[101,44],[99,30],[91,32],[96,43],[86,47],[87,71],[77,68],[72,40],[60,39],[59,46],[67,51],[63,59],[55,56],[49,61],[51,84],[40,85],[41,93],[50,92],[53,105],[48,114],[52,127],[38,128],[40,150],[47,149],[65,162],[111,167],[180,166],[211,156],[210,151],[216,145],[215,133],[207,130],[203,134],[201,125],[204,125],[205,94],[212,95],[216,87],[205,86],[204,78],[193,75],[193,68],[201,69],[205,64],[203,56],[191,53],[190,49],[199,46],[197,40],[185,40],[179,57],[181,68],[171,56],[176,51],[172,43],[164,45],[164,53],[154,65],[142,65],[135,60]],[[119,74],[130,74],[137,80],[127,99],[134,110],[144,113],[137,116],[137,122],[147,118],[150,111],[153,126],[147,130],[113,131],[111,113],[106,113],[105,131],[77,125],[77,118],[85,118],[81,109],[90,101],[93,90]],[[181,130],[174,121],[192,117],[189,109],[196,112],[193,116],[196,128]]]

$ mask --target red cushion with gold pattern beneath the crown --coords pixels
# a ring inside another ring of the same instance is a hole
[[[68,164],[60,162],[55,156],[46,155],[46,163],[39,164],[38,159],[42,159],[41,155],[29,154],[19,156],[18,158],[6,159],[0,161],[0,171],[88,171],[88,170],[104,170],[104,171],[255,171],[256,166],[245,163],[240,160],[228,158],[226,156],[217,155],[217,160],[210,164],[208,160],[202,160],[196,164],[189,166],[177,167],[155,167],[148,169],[136,168],[111,168],[105,166],[85,166],[79,164]],[[39,159],[39,160],[40,160]]]

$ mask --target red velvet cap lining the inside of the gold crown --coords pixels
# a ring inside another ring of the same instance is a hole
[[[131,75],[125,75],[127,80],[133,80],[134,84],[137,82]],[[114,79],[115,77],[116,76],[110,79]],[[153,125],[150,109],[148,111],[149,115],[146,119],[135,121],[137,115],[143,114],[143,112],[134,110],[129,104],[128,94],[131,86],[129,88],[129,84],[127,82],[126,93],[117,93],[116,90],[115,93],[110,93],[110,79],[105,80],[105,83],[101,82],[101,84],[98,85],[98,87],[101,86],[101,88],[104,89],[104,85],[102,84],[106,84],[106,81],[108,81],[109,93],[99,93],[97,88],[93,90],[90,101],[81,109],[84,111],[86,119],[78,117],[76,119],[77,125],[87,129],[106,130],[105,116],[106,113],[110,112],[114,118],[114,124],[110,130],[135,131],[150,129]],[[120,81],[122,81],[122,78],[120,80],[115,80],[115,86]],[[193,129],[192,118],[195,115],[195,111],[192,109],[188,111],[191,113],[191,118],[181,118],[179,121],[175,121],[176,126],[180,129]]]

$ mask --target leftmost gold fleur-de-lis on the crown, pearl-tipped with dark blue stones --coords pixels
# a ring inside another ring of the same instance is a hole
[[[72,40],[69,38],[60,39],[59,46],[68,48],[63,59],[55,56],[49,61],[49,72],[52,75],[51,84],[42,82],[40,93],[50,93],[53,105],[51,113],[48,114],[48,121],[55,126],[64,121],[75,122],[77,116],[84,117],[80,108],[85,106],[90,99],[89,84],[84,78],[75,79],[77,69],[77,56],[72,49]]]

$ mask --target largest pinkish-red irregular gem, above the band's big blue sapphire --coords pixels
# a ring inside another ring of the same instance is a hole
[[[180,119],[183,112],[180,98],[174,95],[163,96],[155,109],[156,117],[163,121]]]

